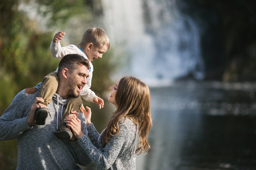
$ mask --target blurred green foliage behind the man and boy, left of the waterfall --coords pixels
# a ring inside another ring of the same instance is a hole
[[[0,1],[0,116],[13,97],[22,89],[34,87],[45,75],[56,70],[58,59],[51,56],[49,44],[53,32],[42,31],[29,11],[19,10],[19,3],[31,5],[30,0]],[[48,28],[65,25],[74,16],[84,18],[93,1],[36,1],[39,14],[48,19]],[[81,32],[82,35],[83,32]],[[94,61],[93,88],[99,96],[110,86],[109,55]]]

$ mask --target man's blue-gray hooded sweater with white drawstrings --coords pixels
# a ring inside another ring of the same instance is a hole
[[[35,94],[25,94],[20,91],[11,102],[11,105],[0,117],[0,141],[17,139],[18,163],[16,169],[81,169],[77,166],[87,165],[90,159],[77,141],[60,140],[53,134],[61,124],[61,113],[64,114],[67,100],[55,94],[48,111],[51,117],[46,119],[46,125],[27,124],[30,106],[38,96],[40,83]],[[57,105],[59,104],[59,105]],[[79,116],[82,131],[88,134],[84,115]]]

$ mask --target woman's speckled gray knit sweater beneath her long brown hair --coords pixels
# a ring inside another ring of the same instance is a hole
[[[120,133],[117,137],[110,138],[104,148],[100,142],[100,134],[93,124],[87,126],[90,139],[85,135],[78,140],[98,169],[136,169],[134,152],[137,126],[129,118],[124,120],[122,118],[119,121]]]

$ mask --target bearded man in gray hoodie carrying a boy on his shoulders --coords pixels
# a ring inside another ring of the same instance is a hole
[[[78,54],[68,54],[59,63],[59,86],[47,109],[45,125],[35,124],[35,111],[46,106],[38,97],[40,86],[20,91],[0,117],[0,141],[17,139],[18,163],[16,169],[80,169],[90,159],[77,141],[57,138],[55,131],[61,124],[69,96],[79,97],[89,75],[89,61]],[[21,104],[22,103],[22,104]],[[87,135],[86,122],[81,113],[82,130]]]

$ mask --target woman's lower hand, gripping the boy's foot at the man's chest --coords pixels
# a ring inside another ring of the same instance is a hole
[[[77,118],[79,113],[76,111],[71,112],[72,114],[68,114],[67,117],[65,117],[64,122],[67,124],[69,128],[72,129],[73,134],[77,139],[84,136],[81,129],[81,120]]]

